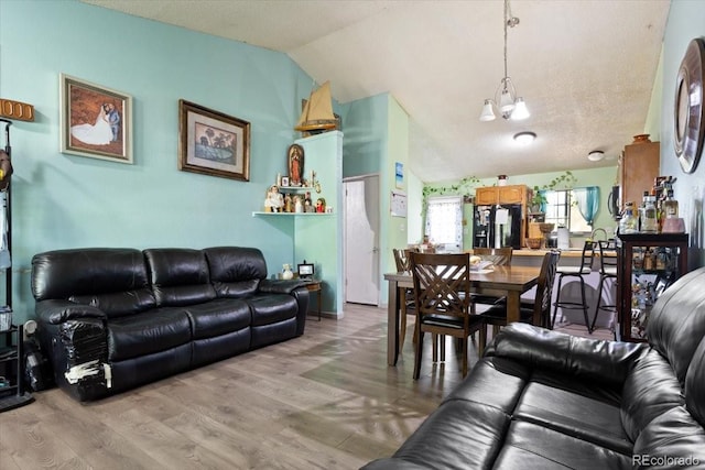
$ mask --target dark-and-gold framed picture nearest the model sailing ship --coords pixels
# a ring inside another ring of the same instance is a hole
[[[178,170],[250,181],[250,123],[178,100]]]

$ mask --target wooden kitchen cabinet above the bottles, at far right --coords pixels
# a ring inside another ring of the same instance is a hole
[[[634,143],[625,146],[619,159],[619,205],[632,201],[639,207],[644,190],[651,190],[659,176],[661,144],[638,135]]]

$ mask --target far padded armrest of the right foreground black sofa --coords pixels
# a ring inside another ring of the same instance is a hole
[[[517,323],[499,332],[486,356],[621,385],[634,361],[648,350],[647,343],[579,338]]]

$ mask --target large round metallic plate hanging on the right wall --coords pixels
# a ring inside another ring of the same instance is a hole
[[[690,42],[675,80],[673,143],[675,155],[685,173],[693,173],[703,153],[705,116],[703,103],[703,68],[705,41]]]

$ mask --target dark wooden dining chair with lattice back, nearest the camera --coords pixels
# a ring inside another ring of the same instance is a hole
[[[421,374],[425,332],[463,340],[462,371],[467,374],[467,338],[482,325],[470,313],[470,256],[467,253],[410,253],[416,307],[414,380]]]

